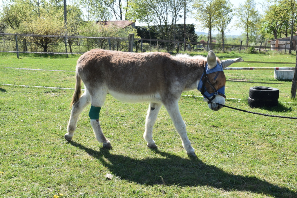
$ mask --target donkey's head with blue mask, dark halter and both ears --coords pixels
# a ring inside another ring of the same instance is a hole
[[[207,63],[203,67],[203,75],[198,83],[197,89],[204,96],[204,101],[208,103],[211,110],[218,111],[225,104],[225,84],[226,77],[223,69],[232,63],[241,62],[242,58],[227,59],[217,62],[217,57],[213,51],[207,55]]]

